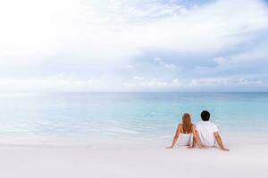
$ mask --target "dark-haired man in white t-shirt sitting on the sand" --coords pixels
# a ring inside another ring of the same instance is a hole
[[[204,147],[214,147],[216,142],[221,150],[228,151],[222,144],[222,138],[219,134],[217,125],[209,121],[210,113],[207,110],[203,110],[201,113],[202,121],[197,123],[197,135],[201,145]]]

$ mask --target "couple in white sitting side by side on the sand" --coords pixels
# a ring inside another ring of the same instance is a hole
[[[191,122],[190,115],[184,114],[182,116],[182,123],[178,125],[174,135],[172,146],[167,147],[167,149],[173,149],[179,140],[178,143],[181,146],[189,146],[188,148],[195,148],[197,146],[200,149],[214,147],[217,142],[221,150],[228,151],[222,144],[222,138],[217,126],[209,121],[209,117],[210,113],[207,110],[203,110],[201,113],[202,121],[199,121],[197,126],[195,126]]]

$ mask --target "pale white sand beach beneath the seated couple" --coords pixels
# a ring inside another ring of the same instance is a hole
[[[0,147],[4,178],[268,177],[268,142],[230,142],[217,149]]]

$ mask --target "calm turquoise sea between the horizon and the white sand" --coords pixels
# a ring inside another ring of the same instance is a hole
[[[226,137],[268,135],[268,93],[1,93],[0,144],[162,145],[203,109]]]

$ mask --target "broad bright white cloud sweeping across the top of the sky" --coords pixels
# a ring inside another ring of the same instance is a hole
[[[268,25],[260,1],[188,10],[157,1],[137,4],[145,1],[1,1],[1,56],[81,53],[119,60],[147,48],[204,53],[243,43],[251,37],[246,32]]]

